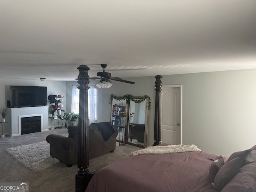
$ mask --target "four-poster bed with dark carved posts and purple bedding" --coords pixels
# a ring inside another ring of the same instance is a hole
[[[87,67],[87,66],[86,66]],[[78,76],[78,83],[87,80],[85,72]],[[83,69],[83,70],[82,70]],[[88,75],[88,74],[87,74]],[[110,164],[96,173],[88,170],[86,121],[80,120],[81,145],[76,191],[86,192],[255,192],[256,191],[256,146],[230,157],[202,152],[194,145],[170,146],[161,144],[160,136],[160,91],[161,78],[155,77],[156,103],[154,145],[131,154],[132,156]],[[79,81],[80,80],[80,81]],[[85,92],[86,93],[86,92]],[[81,94],[81,91],[80,91]],[[84,96],[80,95],[80,98]],[[86,96],[85,96],[86,97]],[[80,100],[81,101],[81,100]],[[84,100],[86,102],[86,99]],[[82,103],[85,104],[85,103]],[[86,107],[82,115],[88,113]],[[87,110],[87,112],[86,112]]]

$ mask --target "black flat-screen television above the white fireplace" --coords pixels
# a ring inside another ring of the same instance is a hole
[[[47,87],[10,86],[11,107],[34,107],[47,105]]]

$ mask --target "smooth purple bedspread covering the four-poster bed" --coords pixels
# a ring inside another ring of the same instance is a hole
[[[131,156],[98,170],[86,192],[216,192],[208,171],[217,157],[201,151]]]

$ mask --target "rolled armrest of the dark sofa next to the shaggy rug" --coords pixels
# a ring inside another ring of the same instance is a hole
[[[50,134],[46,137],[46,141],[55,147],[62,147],[65,150],[74,149],[74,139],[63,135]]]

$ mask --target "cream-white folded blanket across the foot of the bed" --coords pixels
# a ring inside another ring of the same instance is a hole
[[[180,153],[188,151],[201,151],[195,145],[166,145],[166,146],[154,146],[147,147],[145,149],[137,150],[130,153],[130,156],[139,154],[168,154],[168,153]]]

